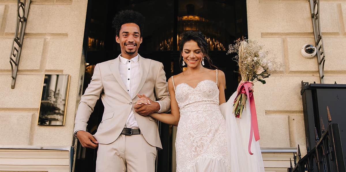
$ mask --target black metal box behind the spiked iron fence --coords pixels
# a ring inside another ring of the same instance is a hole
[[[333,123],[339,124],[344,157],[346,155],[346,84],[316,84],[302,81],[301,92],[305,134],[310,147],[316,145],[315,127],[321,136],[320,118],[328,125],[327,106]],[[345,157],[346,158],[346,157]],[[346,162],[344,158],[344,162]]]

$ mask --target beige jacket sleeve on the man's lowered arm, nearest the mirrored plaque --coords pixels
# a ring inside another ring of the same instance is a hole
[[[88,122],[90,114],[94,110],[95,104],[97,100],[100,98],[102,90],[103,85],[101,72],[99,64],[96,64],[90,84],[88,85],[88,88],[86,88],[78,105],[78,110],[74,122],[73,134],[75,134],[75,132],[79,130],[86,131],[86,126],[88,125],[86,122]]]

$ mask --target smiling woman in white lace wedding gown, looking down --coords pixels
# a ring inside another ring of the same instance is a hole
[[[168,80],[171,113],[151,114],[161,122],[177,126],[176,171],[264,172],[258,142],[252,141],[254,154],[248,153],[249,112],[243,112],[242,119],[236,119],[232,113],[237,91],[226,102],[224,72],[203,67],[204,60],[211,64],[204,35],[184,32],[179,49],[180,61],[187,69]],[[136,104],[147,101],[142,97]]]

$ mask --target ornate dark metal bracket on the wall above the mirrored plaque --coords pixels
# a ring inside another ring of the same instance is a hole
[[[17,2],[18,2],[17,3],[18,5],[17,25],[16,25],[15,38],[13,39],[13,42],[12,42],[12,48],[11,48],[11,54],[10,54],[11,77],[12,77],[11,89],[14,89],[16,84],[19,59],[20,59],[21,49],[23,45],[26,21],[28,19],[31,0],[28,0],[27,2],[26,0],[17,0]]]

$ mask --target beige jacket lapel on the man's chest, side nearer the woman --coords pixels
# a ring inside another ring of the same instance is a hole
[[[139,55],[139,54],[138,54]],[[142,56],[139,55],[139,68],[140,68],[140,81],[138,83],[138,88],[134,92],[134,95],[132,99],[134,99],[137,96],[137,93],[139,93],[140,89],[142,89],[145,81],[147,80],[148,74],[149,74],[149,69],[150,69],[150,63],[151,60],[145,59]]]

